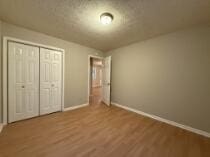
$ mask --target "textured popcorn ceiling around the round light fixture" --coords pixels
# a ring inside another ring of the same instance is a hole
[[[114,15],[111,25],[99,21]],[[0,0],[0,19],[100,49],[210,23],[210,0]]]

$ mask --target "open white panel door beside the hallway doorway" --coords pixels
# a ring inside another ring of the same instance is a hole
[[[111,56],[104,59],[103,68],[103,102],[110,105],[110,85],[111,85]]]

